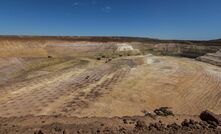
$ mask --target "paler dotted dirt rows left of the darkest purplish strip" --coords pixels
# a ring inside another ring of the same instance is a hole
[[[83,72],[84,69],[72,68],[59,69],[53,73],[23,80],[2,86],[0,98],[1,116],[20,116],[38,114],[42,108],[57,100],[65,94],[62,84],[70,83],[71,78]],[[82,65],[82,64],[80,64]],[[77,66],[77,65],[76,65]],[[55,90],[55,89],[58,90]]]

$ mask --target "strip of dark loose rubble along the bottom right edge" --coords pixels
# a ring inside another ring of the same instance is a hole
[[[216,123],[209,121],[195,121],[192,119],[184,119],[181,124],[177,124],[176,122],[170,124],[164,124],[162,121],[152,122],[145,124],[144,121],[137,121],[134,128],[135,133],[164,133],[164,134],[199,134],[199,133],[215,133],[219,134],[221,132],[220,127],[217,126]]]

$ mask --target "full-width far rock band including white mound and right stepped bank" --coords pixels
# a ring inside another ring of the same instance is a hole
[[[169,41],[123,37],[0,36],[0,57],[47,57],[48,55],[53,57],[91,57],[99,53],[133,50],[136,52],[135,54],[153,52],[160,55],[199,57],[200,61],[221,66],[220,49],[221,42],[219,40]]]

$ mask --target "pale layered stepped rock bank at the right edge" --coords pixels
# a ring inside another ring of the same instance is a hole
[[[206,55],[200,56],[197,59],[216,66],[221,66],[221,50],[217,51],[216,53],[207,53]]]

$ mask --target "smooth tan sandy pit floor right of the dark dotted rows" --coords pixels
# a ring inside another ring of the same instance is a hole
[[[160,106],[177,114],[221,113],[221,70],[187,58],[147,57],[152,63],[132,68],[112,92],[78,116],[133,116]]]

